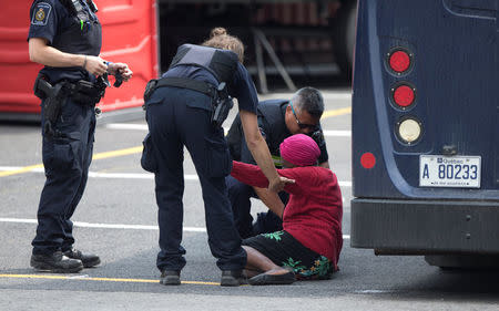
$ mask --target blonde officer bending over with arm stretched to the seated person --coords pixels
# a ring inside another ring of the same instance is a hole
[[[276,193],[293,182],[277,175],[256,121],[257,95],[243,66],[244,46],[223,28],[212,30],[203,45],[184,44],[169,71],[147,84],[145,96],[150,134],[144,139],[142,166],[155,173],[162,284],[180,284],[185,266],[181,246],[184,191],[183,147],[200,177],[212,255],[222,270],[221,286],[240,286],[246,252],[234,226],[225,176],[232,160],[222,122],[237,97],[244,135],[256,163]],[[157,83],[157,84],[155,84]]]

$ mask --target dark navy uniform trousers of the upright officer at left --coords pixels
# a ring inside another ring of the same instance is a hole
[[[74,242],[70,218],[83,195],[92,160],[95,129],[93,106],[80,105],[68,99],[54,128],[59,132],[55,136],[43,136],[47,182],[38,208],[33,253],[65,251]]]

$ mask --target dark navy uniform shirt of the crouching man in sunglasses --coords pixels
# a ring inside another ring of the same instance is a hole
[[[274,108],[266,110],[267,117],[262,113],[265,105],[273,105]],[[262,136],[265,138],[268,149],[271,152],[274,165],[277,168],[282,168],[282,157],[279,145],[281,143],[289,137],[292,133],[287,129],[286,123],[284,121],[284,115],[286,113],[286,107],[288,101],[285,100],[271,100],[259,103],[258,106],[258,127]],[[272,112],[272,113],[271,113]],[[272,115],[268,115],[268,114]],[[237,115],[231,126],[227,134],[228,148],[231,151],[231,156],[235,160],[243,163],[255,164],[255,160],[249,152],[246,142],[244,139],[244,134],[242,131],[242,124],[240,115]],[[323,142],[318,144],[320,149],[320,156],[318,157],[318,163],[324,163],[328,160],[328,154],[326,149],[326,143]]]

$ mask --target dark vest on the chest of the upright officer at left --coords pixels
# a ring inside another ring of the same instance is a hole
[[[96,18],[91,18],[90,12],[83,8],[79,0],[60,0],[67,8],[71,19],[71,25],[58,33],[52,46],[71,54],[85,54],[98,56],[102,46],[102,27]],[[96,7],[89,1],[89,7],[96,11]]]

